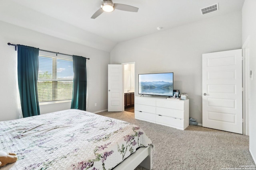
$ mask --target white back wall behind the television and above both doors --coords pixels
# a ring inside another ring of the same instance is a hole
[[[138,74],[174,72],[174,89],[188,92],[190,117],[202,123],[202,54],[241,49],[241,24],[241,12],[234,12],[118,43],[110,62],[135,61],[136,80]]]

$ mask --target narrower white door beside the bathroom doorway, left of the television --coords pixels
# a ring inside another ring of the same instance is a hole
[[[108,111],[123,111],[123,65],[108,64]]]

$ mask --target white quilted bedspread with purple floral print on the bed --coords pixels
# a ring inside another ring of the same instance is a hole
[[[140,127],[69,109],[0,122],[0,150],[15,163],[1,170],[111,170],[139,147],[152,145]]]

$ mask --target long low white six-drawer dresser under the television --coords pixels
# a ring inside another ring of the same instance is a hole
[[[182,130],[189,125],[189,100],[136,96],[134,111],[135,119]]]

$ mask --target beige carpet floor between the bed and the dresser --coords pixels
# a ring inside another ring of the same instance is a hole
[[[134,119],[131,112],[100,112],[140,126],[153,142],[153,170],[223,170],[254,165],[249,137],[190,125],[182,131]],[[138,166],[136,170],[144,170]]]

